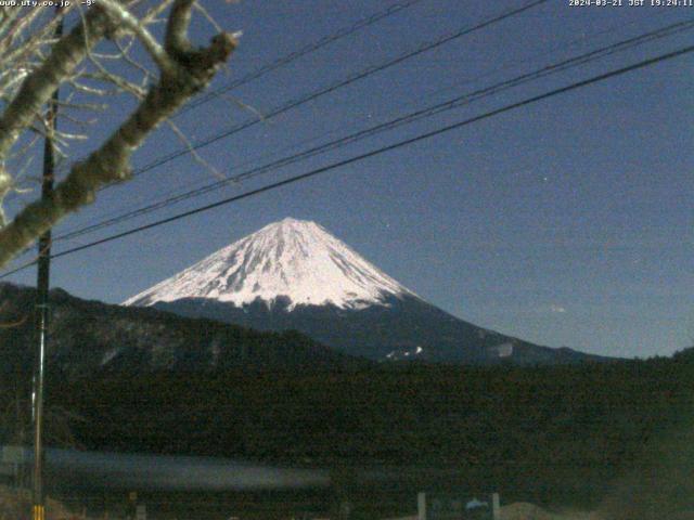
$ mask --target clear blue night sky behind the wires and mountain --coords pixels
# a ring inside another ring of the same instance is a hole
[[[207,2],[241,46],[214,87],[395,5],[386,1]],[[267,114],[371,65],[527,2],[421,0],[177,118],[192,141]],[[625,0],[624,3],[628,3]],[[694,17],[694,8],[571,8],[524,14],[265,120],[201,151],[233,174],[591,49]],[[198,21],[203,42],[211,29]],[[56,244],[74,247],[590,76],[692,44],[693,31],[380,134],[282,170]],[[551,347],[624,356],[694,344],[694,60],[691,55],[536,103],[55,260],[53,285],[119,302],[284,217],[313,220],[428,301]],[[117,105],[116,101],[116,106]],[[125,105],[124,105],[125,107]],[[113,119],[111,122],[115,122]],[[97,138],[105,135],[94,130]],[[163,128],[144,165],[181,146]],[[79,155],[79,154],[77,154]],[[190,157],[106,190],[78,229],[216,177]],[[16,209],[30,195],[14,199]],[[35,283],[27,270],[11,278]]]

